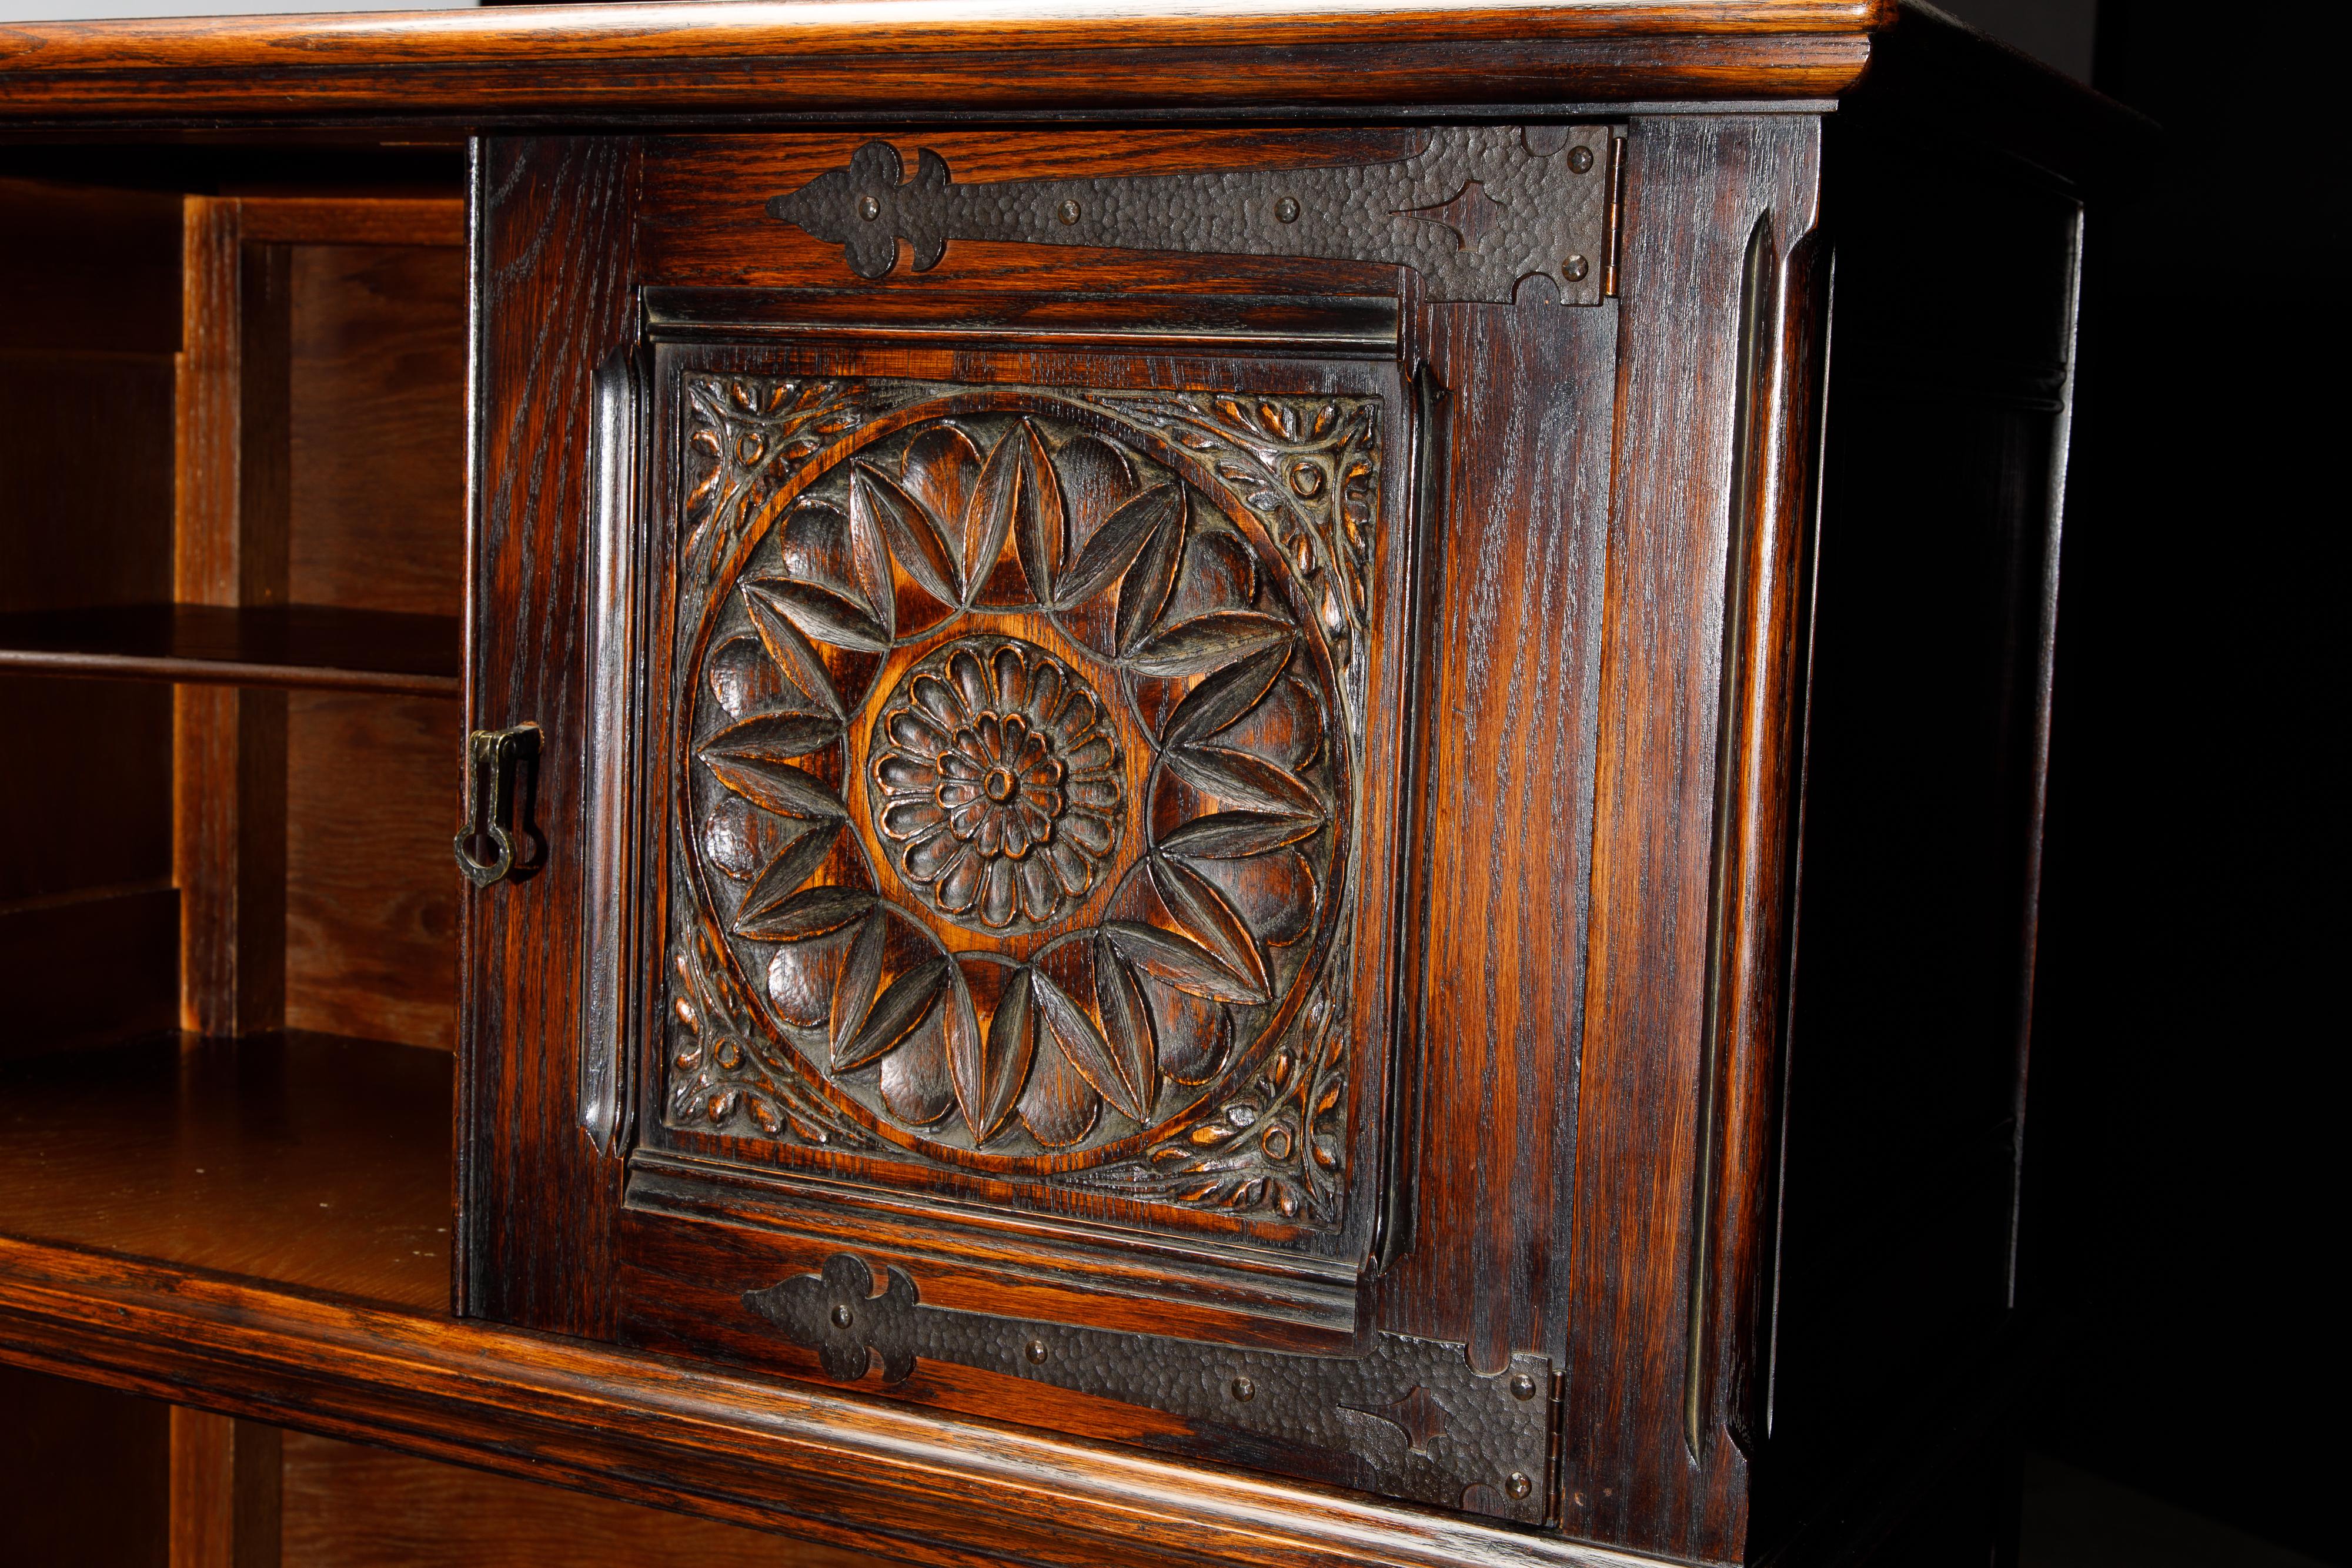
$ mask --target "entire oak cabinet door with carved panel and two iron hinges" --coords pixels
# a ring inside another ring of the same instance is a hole
[[[1555,1516],[1618,146],[487,148],[463,1312]]]

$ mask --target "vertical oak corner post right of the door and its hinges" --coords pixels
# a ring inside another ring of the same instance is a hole
[[[1562,1523],[1715,1561],[1748,1528],[1748,1458],[1686,1439],[1743,317],[1759,219],[1783,256],[1813,226],[1818,148],[1799,118],[1637,120],[1625,146]]]

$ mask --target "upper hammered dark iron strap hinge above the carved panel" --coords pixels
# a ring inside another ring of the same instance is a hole
[[[858,277],[887,275],[898,240],[917,273],[948,240],[997,240],[1378,261],[1421,273],[1428,301],[1508,303],[1541,277],[1562,306],[1597,306],[1613,282],[1616,146],[1606,125],[1468,125],[1399,162],[957,186],[931,148],[906,181],[898,150],[868,141],[767,212],[840,244]]]

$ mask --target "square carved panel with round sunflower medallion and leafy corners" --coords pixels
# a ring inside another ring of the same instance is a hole
[[[1378,400],[680,390],[668,1121],[1334,1225]]]

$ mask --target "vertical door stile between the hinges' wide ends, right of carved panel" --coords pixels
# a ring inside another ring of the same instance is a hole
[[[1446,388],[1404,922],[1421,1046],[1416,1246],[1383,1326],[1477,1366],[1566,1354],[1592,722],[1618,308],[1425,306]]]

